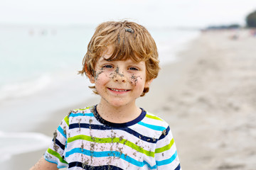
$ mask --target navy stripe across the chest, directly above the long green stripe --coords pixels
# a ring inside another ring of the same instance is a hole
[[[70,124],[69,129],[75,129],[75,128],[87,128],[87,129],[95,129],[95,130],[124,130],[125,132],[128,132],[130,135],[134,135],[135,137],[138,137],[140,140],[144,140],[146,142],[150,143],[156,143],[158,139],[154,139],[152,137],[146,137],[144,135],[141,135],[140,133],[130,129],[130,128],[114,128],[114,127],[109,127],[105,125],[92,125],[92,124],[87,124],[87,123],[73,123]]]

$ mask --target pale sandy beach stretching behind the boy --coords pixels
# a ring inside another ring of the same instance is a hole
[[[182,169],[256,167],[256,38],[242,30],[202,33],[164,65],[138,106],[166,120]],[[74,106],[83,108],[97,98]],[[53,113],[35,132],[51,136],[72,108]],[[45,150],[12,157],[3,169],[29,169]]]

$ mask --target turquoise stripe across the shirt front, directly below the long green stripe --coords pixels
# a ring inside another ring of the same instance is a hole
[[[95,152],[87,149],[74,148],[74,149],[71,149],[69,152],[66,152],[65,157],[69,157],[71,154],[75,154],[75,153],[85,154],[89,157],[119,157],[120,159],[123,159],[126,162],[134,164],[135,166],[142,167],[146,164],[147,166],[149,166],[150,169],[156,169],[156,165],[150,166],[150,164],[145,161],[139,162],[133,159],[132,157],[129,157],[125,154],[121,154],[120,152],[117,152],[117,151]]]

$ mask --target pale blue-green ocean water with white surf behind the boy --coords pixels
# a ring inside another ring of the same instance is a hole
[[[161,64],[178,60],[196,30],[148,28]],[[55,111],[93,96],[78,75],[95,26],[0,25],[0,162],[45,148],[51,137],[35,132]]]

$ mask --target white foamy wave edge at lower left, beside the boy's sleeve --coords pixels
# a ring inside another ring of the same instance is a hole
[[[51,137],[37,132],[1,132],[0,162],[5,162],[16,154],[47,148]]]

